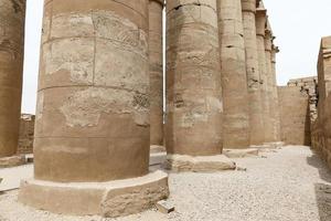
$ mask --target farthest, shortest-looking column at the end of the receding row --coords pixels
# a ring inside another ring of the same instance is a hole
[[[281,141],[280,131],[280,110],[279,110],[279,97],[277,86],[277,72],[276,72],[276,54],[279,52],[278,46],[271,45],[271,80],[273,80],[273,101],[275,101],[275,137],[277,141]]]

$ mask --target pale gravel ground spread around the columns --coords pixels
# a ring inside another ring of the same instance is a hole
[[[331,172],[308,147],[285,147],[264,157],[236,159],[247,171],[170,173],[175,212],[150,210],[116,221],[331,221]],[[0,196],[1,221],[115,221],[65,217]]]

